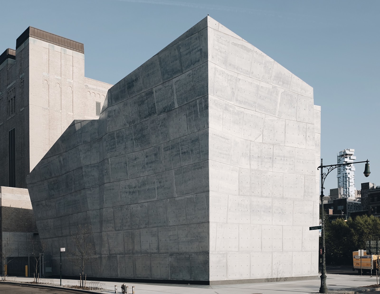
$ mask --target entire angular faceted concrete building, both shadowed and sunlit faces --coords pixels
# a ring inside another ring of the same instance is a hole
[[[301,278],[318,274],[319,156],[312,87],[206,17],[109,89],[99,120],[74,121],[27,182],[46,254],[92,226],[90,276]]]

